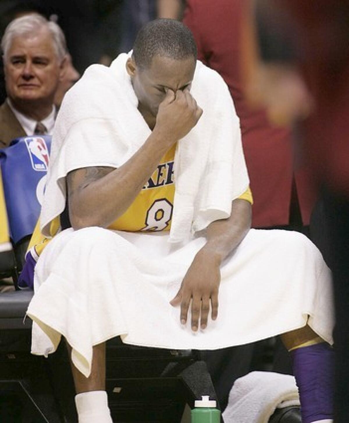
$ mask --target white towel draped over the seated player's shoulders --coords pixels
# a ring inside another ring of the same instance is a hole
[[[87,166],[118,168],[151,133],[126,71],[130,55],[120,54],[110,67],[91,65],[63,99],[41,210],[46,236],[49,222],[65,207],[68,172]],[[197,61],[191,93],[203,115],[177,143],[171,242],[229,217],[232,200],[249,184],[239,119],[224,80]]]

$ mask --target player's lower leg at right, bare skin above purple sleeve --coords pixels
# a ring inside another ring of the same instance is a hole
[[[308,325],[281,335],[290,351],[303,423],[333,420],[334,351]]]

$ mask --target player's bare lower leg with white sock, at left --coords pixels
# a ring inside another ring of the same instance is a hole
[[[71,347],[67,344],[68,351]],[[71,356],[71,354],[69,354]],[[71,361],[76,390],[75,404],[79,423],[112,423],[106,394],[105,343],[93,347],[92,367],[89,377],[85,377]]]

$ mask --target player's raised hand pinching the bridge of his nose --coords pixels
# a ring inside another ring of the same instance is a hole
[[[154,130],[161,131],[172,145],[194,128],[201,115],[202,109],[188,88],[177,90],[176,93],[168,89],[159,106]]]

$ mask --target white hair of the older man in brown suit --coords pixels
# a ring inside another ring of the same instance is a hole
[[[68,53],[68,49],[62,29],[56,22],[48,21],[44,16],[37,13],[20,16],[7,25],[1,40],[1,49],[4,58],[6,59],[8,49],[14,37],[33,34],[42,28],[47,28],[51,34],[57,58],[58,60],[63,60],[64,56]]]

